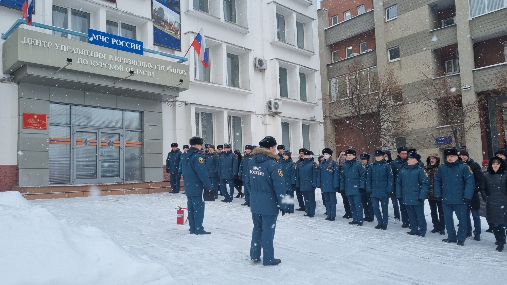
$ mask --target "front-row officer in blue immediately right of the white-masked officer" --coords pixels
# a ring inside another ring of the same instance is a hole
[[[347,161],[340,171],[340,190],[345,191],[352,212],[350,225],[363,226],[363,201],[361,196],[366,192],[366,166],[355,157],[355,151],[345,151]]]

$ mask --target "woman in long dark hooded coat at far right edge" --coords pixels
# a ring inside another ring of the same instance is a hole
[[[503,251],[505,244],[505,226],[507,226],[507,163],[498,156],[489,160],[488,172],[484,173],[481,194],[486,201],[486,217],[493,223],[493,233],[498,245],[496,250]]]

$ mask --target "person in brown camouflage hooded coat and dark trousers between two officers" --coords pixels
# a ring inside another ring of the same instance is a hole
[[[424,166],[424,170],[428,173],[429,179],[429,192],[428,192],[428,203],[429,208],[431,210],[431,223],[433,224],[433,229],[430,233],[440,233],[441,235],[445,235],[445,220],[444,220],[444,210],[442,209],[442,202],[435,199],[433,181],[435,179],[435,174],[437,174],[437,170],[439,170],[440,166],[440,156],[436,153],[432,153],[428,155],[426,158],[426,166]]]

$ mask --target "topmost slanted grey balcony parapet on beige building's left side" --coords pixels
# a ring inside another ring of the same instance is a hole
[[[354,35],[374,29],[375,17],[373,11],[374,10],[370,10],[364,14],[325,28],[325,44],[329,46],[350,37],[354,37]]]

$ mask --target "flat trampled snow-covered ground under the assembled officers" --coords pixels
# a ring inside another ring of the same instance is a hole
[[[363,227],[342,219],[325,221],[320,193],[314,218],[302,212],[278,216],[274,240],[278,266],[250,262],[251,216],[233,203],[206,203],[204,229],[210,235],[188,233],[176,225],[175,207],[186,206],[185,195],[144,194],[34,200],[55,216],[95,226],[138,256],[165,265],[180,284],[498,284],[505,280],[507,252],[494,248],[493,234],[481,241],[468,238],[465,246],[442,242],[428,233],[409,236],[408,229],[390,217],[387,231],[365,222]],[[392,208],[390,206],[390,208]],[[392,215],[392,210],[390,211]],[[186,215],[185,215],[186,216]],[[457,219],[455,219],[457,223]],[[483,231],[487,229],[482,221]],[[1,269],[0,269],[1,270]]]

